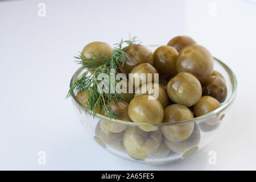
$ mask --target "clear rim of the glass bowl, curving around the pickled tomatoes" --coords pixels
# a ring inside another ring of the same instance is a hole
[[[221,64],[222,67],[224,67],[224,69],[226,70],[226,72],[228,72],[228,75],[230,78],[232,78],[233,81],[233,88],[232,88],[232,94],[231,96],[228,98],[228,100],[226,100],[224,103],[222,103],[222,105],[220,107],[218,107],[218,109],[211,111],[210,113],[207,113],[205,115],[202,115],[200,117],[196,117],[193,119],[188,119],[185,121],[177,121],[177,122],[171,122],[171,123],[135,123],[135,122],[129,122],[129,121],[122,121],[119,119],[110,119],[109,117],[106,117],[105,115],[102,114],[98,114],[96,113],[96,115],[94,115],[94,117],[98,117],[101,119],[105,119],[111,122],[117,122],[117,123],[122,123],[124,125],[130,125],[130,126],[140,126],[140,125],[150,125],[150,126],[171,126],[171,125],[178,125],[181,123],[187,123],[187,122],[199,122],[202,121],[204,119],[210,118],[213,115],[220,113],[221,111],[224,111],[226,109],[226,107],[228,107],[230,104],[232,104],[234,98],[236,97],[236,93],[237,93],[237,78],[236,75],[234,75],[232,69],[230,69],[228,67],[228,65],[226,65],[225,63],[223,63],[221,60],[217,59],[216,57],[213,57],[214,60],[216,60],[218,63]],[[77,71],[74,73],[74,75],[71,78],[71,82],[69,85],[69,88],[71,88],[72,83],[75,81],[75,79],[77,78],[77,76],[79,76],[80,72],[85,69],[84,67],[80,67],[79,69],[77,69]],[[75,93],[72,93],[72,99],[75,100],[76,104],[78,104],[80,107],[82,107],[82,109],[86,110],[86,107],[84,105],[82,105],[76,98]],[[87,110],[85,114],[89,114],[90,116],[93,117],[93,113],[92,110]]]

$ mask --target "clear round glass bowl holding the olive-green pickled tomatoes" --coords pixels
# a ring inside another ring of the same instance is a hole
[[[154,51],[157,47],[148,48]],[[214,70],[225,78],[228,88],[225,102],[218,109],[187,121],[160,124],[134,123],[118,119],[111,121],[101,114],[93,118],[90,111],[85,113],[86,107],[77,100],[75,94],[72,95],[72,102],[86,133],[106,151],[141,163],[171,163],[187,158],[207,146],[228,121],[229,112],[232,112],[230,105],[236,97],[237,79],[232,70],[216,58]],[[71,84],[84,71],[84,68],[79,68],[73,75]],[[190,136],[179,141],[187,135],[181,132],[183,129],[190,131]]]

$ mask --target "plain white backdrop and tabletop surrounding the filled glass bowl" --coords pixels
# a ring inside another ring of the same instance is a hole
[[[46,17],[38,4],[46,3]],[[214,4],[212,4],[214,3]],[[216,10],[214,7],[216,5]],[[1,1],[0,169],[256,169],[256,3],[253,1]],[[192,36],[236,73],[233,115],[204,150],[179,163],[148,166],[98,147],[64,100],[85,44],[144,44]],[[217,164],[208,163],[209,151]],[[46,151],[46,165],[38,152]]]

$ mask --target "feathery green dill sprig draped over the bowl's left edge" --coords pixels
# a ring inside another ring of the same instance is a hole
[[[114,102],[114,100],[122,99],[122,93],[99,93],[98,85],[101,80],[98,80],[98,75],[101,73],[105,73],[108,76],[109,80],[109,88],[110,88],[110,76],[117,75],[118,64],[123,64],[124,57],[127,56],[125,50],[123,48],[123,44],[135,44],[138,40],[136,37],[129,38],[129,40],[121,40],[118,44],[114,44],[114,48],[112,49],[112,56],[107,57],[105,55],[96,55],[94,52],[89,52],[92,56],[90,58],[85,57],[80,53],[79,56],[75,56],[76,63],[81,64],[82,67],[87,68],[84,73],[82,73],[79,78],[71,85],[69,92],[67,94],[67,98],[72,96],[72,94],[81,93],[86,90],[87,94],[87,106],[86,112],[91,110],[93,117],[96,113],[101,113],[107,115],[110,119],[118,118],[119,114],[114,112],[108,107],[109,102]],[[110,72],[110,69],[114,69],[114,75]],[[115,85],[117,81],[115,80]],[[117,90],[118,91],[118,90]]]

